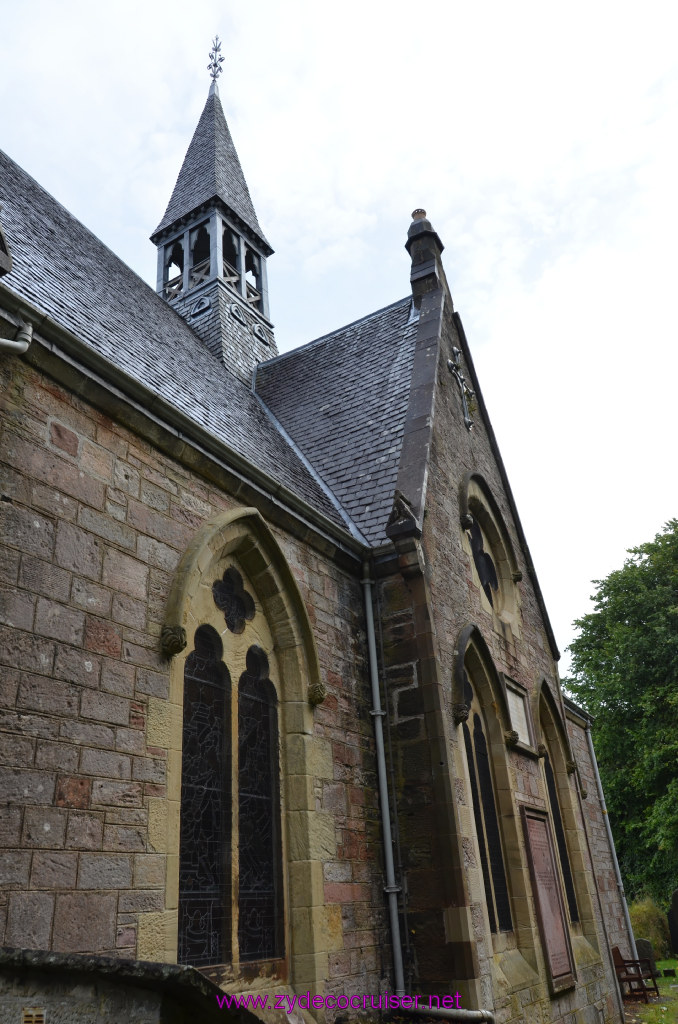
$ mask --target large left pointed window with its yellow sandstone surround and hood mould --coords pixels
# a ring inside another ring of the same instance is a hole
[[[181,767],[181,781],[186,781],[181,808],[178,801],[168,808],[168,835],[178,838],[181,874],[178,893],[171,878],[167,883],[168,898],[176,900],[178,895],[178,958],[209,967],[210,977],[219,983],[269,972],[271,962],[277,976],[289,971],[293,978],[297,958],[299,971],[306,965],[303,952],[288,951],[286,936],[295,914],[306,912],[308,867],[303,858],[291,857],[295,870],[287,873],[291,818],[282,780],[291,758],[295,773],[311,773],[312,708],[324,699],[325,689],[298,586],[254,509],[220,513],[198,531],[176,571],[162,643],[166,655],[173,657],[170,701],[177,706],[183,734],[181,758],[170,759],[168,787],[177,784],[173,764]],[[198,684],[217,691],[214,714],[208,716],[193,693]],[[293,716],[282,712],[288,701],[294,705]],[[209,738],[192,724],[196,716],[199,722],[213,720]],[[219,742],[217,723],[223,725]],[[212,810],[227,809],[218,827],[213,817],[205,818],[202,831],[200,815],[190,806],[201,801],[189,788],[196,771],[203,771],[201,757],[208,757],[210,770],[223,783],[223,796],[209,801]],[[294,831],[300,849],[305,849],[310,820],[295,817]],[[207,845],[216,836],[220,858]],[[200,864],[208,853],[220,868],[213,866],[208,873],[210,891],[203,895],[209,909],[194,906],[192,916],[190,899],[201,895],[198,868],[189,873],[192,857]],[[195,933],[204,931],[205,922],[212,938],[205,942],[203,936],[200,945]],[[321,926],[310,926],[319,943]]]

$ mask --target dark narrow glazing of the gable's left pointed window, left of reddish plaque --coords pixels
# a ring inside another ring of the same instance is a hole
[[[465,680],[464,689],[470,707],[469,722],[473,729],[471,734],[467,722],[464,722],[464,745],[490,929],[492,932],[497,932],[498,929],[510,932],[513,930],[513,921],[482,711],[468,679]]]

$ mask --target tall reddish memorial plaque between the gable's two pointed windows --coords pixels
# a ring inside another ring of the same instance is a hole
[[[575,984],[575,961],[560,891],[560,877],[556,867],[551,826],[545,811],[533,807],[521,807],[520,811],[539,931],[551,992],[555,994]]]

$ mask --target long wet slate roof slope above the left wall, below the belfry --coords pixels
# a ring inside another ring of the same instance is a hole
[[[1,151],[0,203],[13,259],[1,285],[345,526],[251,390],[164,299]]]

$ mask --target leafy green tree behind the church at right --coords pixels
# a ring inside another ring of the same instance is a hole
[[[565,687],[593,739],[625,887],[666,904],[678,886],[678,520],[595,580]]]

